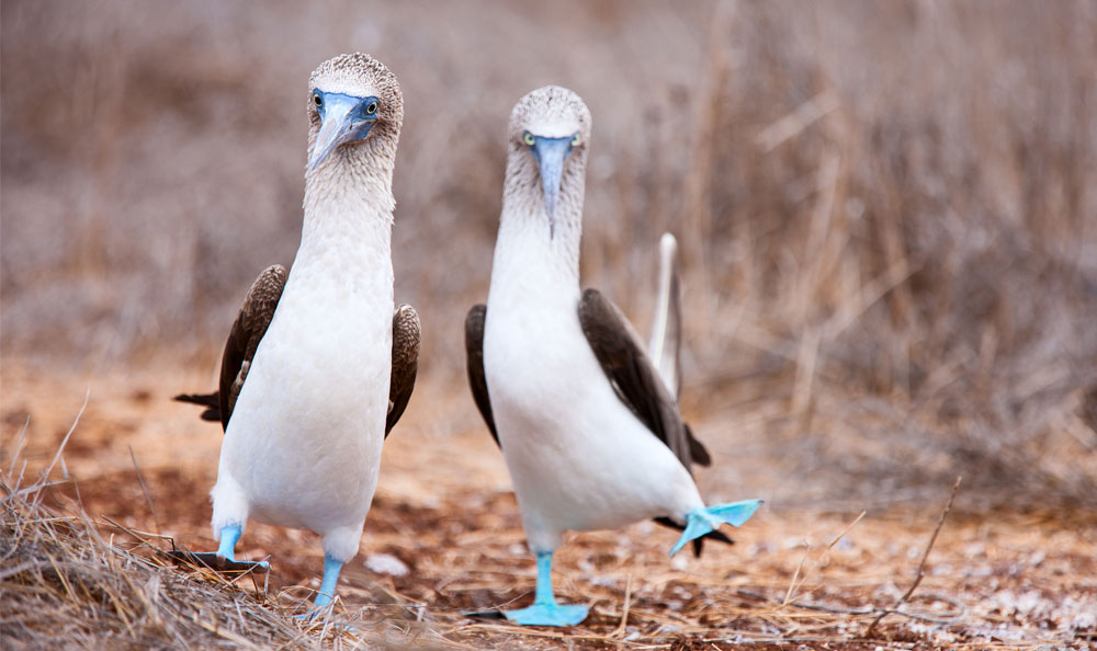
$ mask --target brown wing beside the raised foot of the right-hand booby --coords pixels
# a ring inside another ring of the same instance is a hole
[[[675,453],[687,470],[693,462],[708,466],[711,462],[708,450],[693,438],[678,412],[675,397],[617,306],[597,289],[587,289],[579,302],[579,323],[621,401]]]

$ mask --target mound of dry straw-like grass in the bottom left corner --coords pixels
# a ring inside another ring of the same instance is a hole
[[[338,613],[299,623],[294,619],[301,612],[299,599],[269,592],[263,578],[228,580],[197,568],[172,566],[162,553],[176,548],[170,537],[135,530],[110,517],[93,519],[79,503],[71,478],[49,479],[67,442],[66,437],[54,464],[25,484],[26,459],[18,454],[20,442],[0,477],[0,640],[4,649],[404,649],[439,644],[437,636],[400,612],[367,620],[361,612]],[[70,496],[72,490],[77,500]]]

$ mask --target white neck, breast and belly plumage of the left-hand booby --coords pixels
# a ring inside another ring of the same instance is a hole
[[[304,528],[325,552],[358,552],[377,486],[392,364],[387,206],[306,193],[301,248],[222,445],[213,529]]]

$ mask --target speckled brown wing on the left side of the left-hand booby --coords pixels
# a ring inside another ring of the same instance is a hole
[[[287,277],[285,267],[275,264],[263,270],[248,289],[244,298],[240,313],[237,315],[233,329],[225,342],[225,353],[220,357],[220,387],[218,390],[218,407],[220,409],[220,426],[228,429],[228,420],[233,418],[236,399],[248,377],[248,368],[256,357],[256,349],[267,334],[267,328],[274,318],[274,309],[282,298]]]

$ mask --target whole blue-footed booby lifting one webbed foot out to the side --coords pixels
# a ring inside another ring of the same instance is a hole
[[[533,605],[504,613],[519,624],[587,615],[553,595],[565,530],[656,517],[685,529],[674,555],[701,537],[727,540],[714,529],[742,525],[759,504],[704,505],[689,467],[706,465],[708,453],[620,311],[595,289],[580,293],[589,136],[590,113],[567,89],[545,87],[514,106],[488,302],[465,322],[473,397],[538,558]]]

